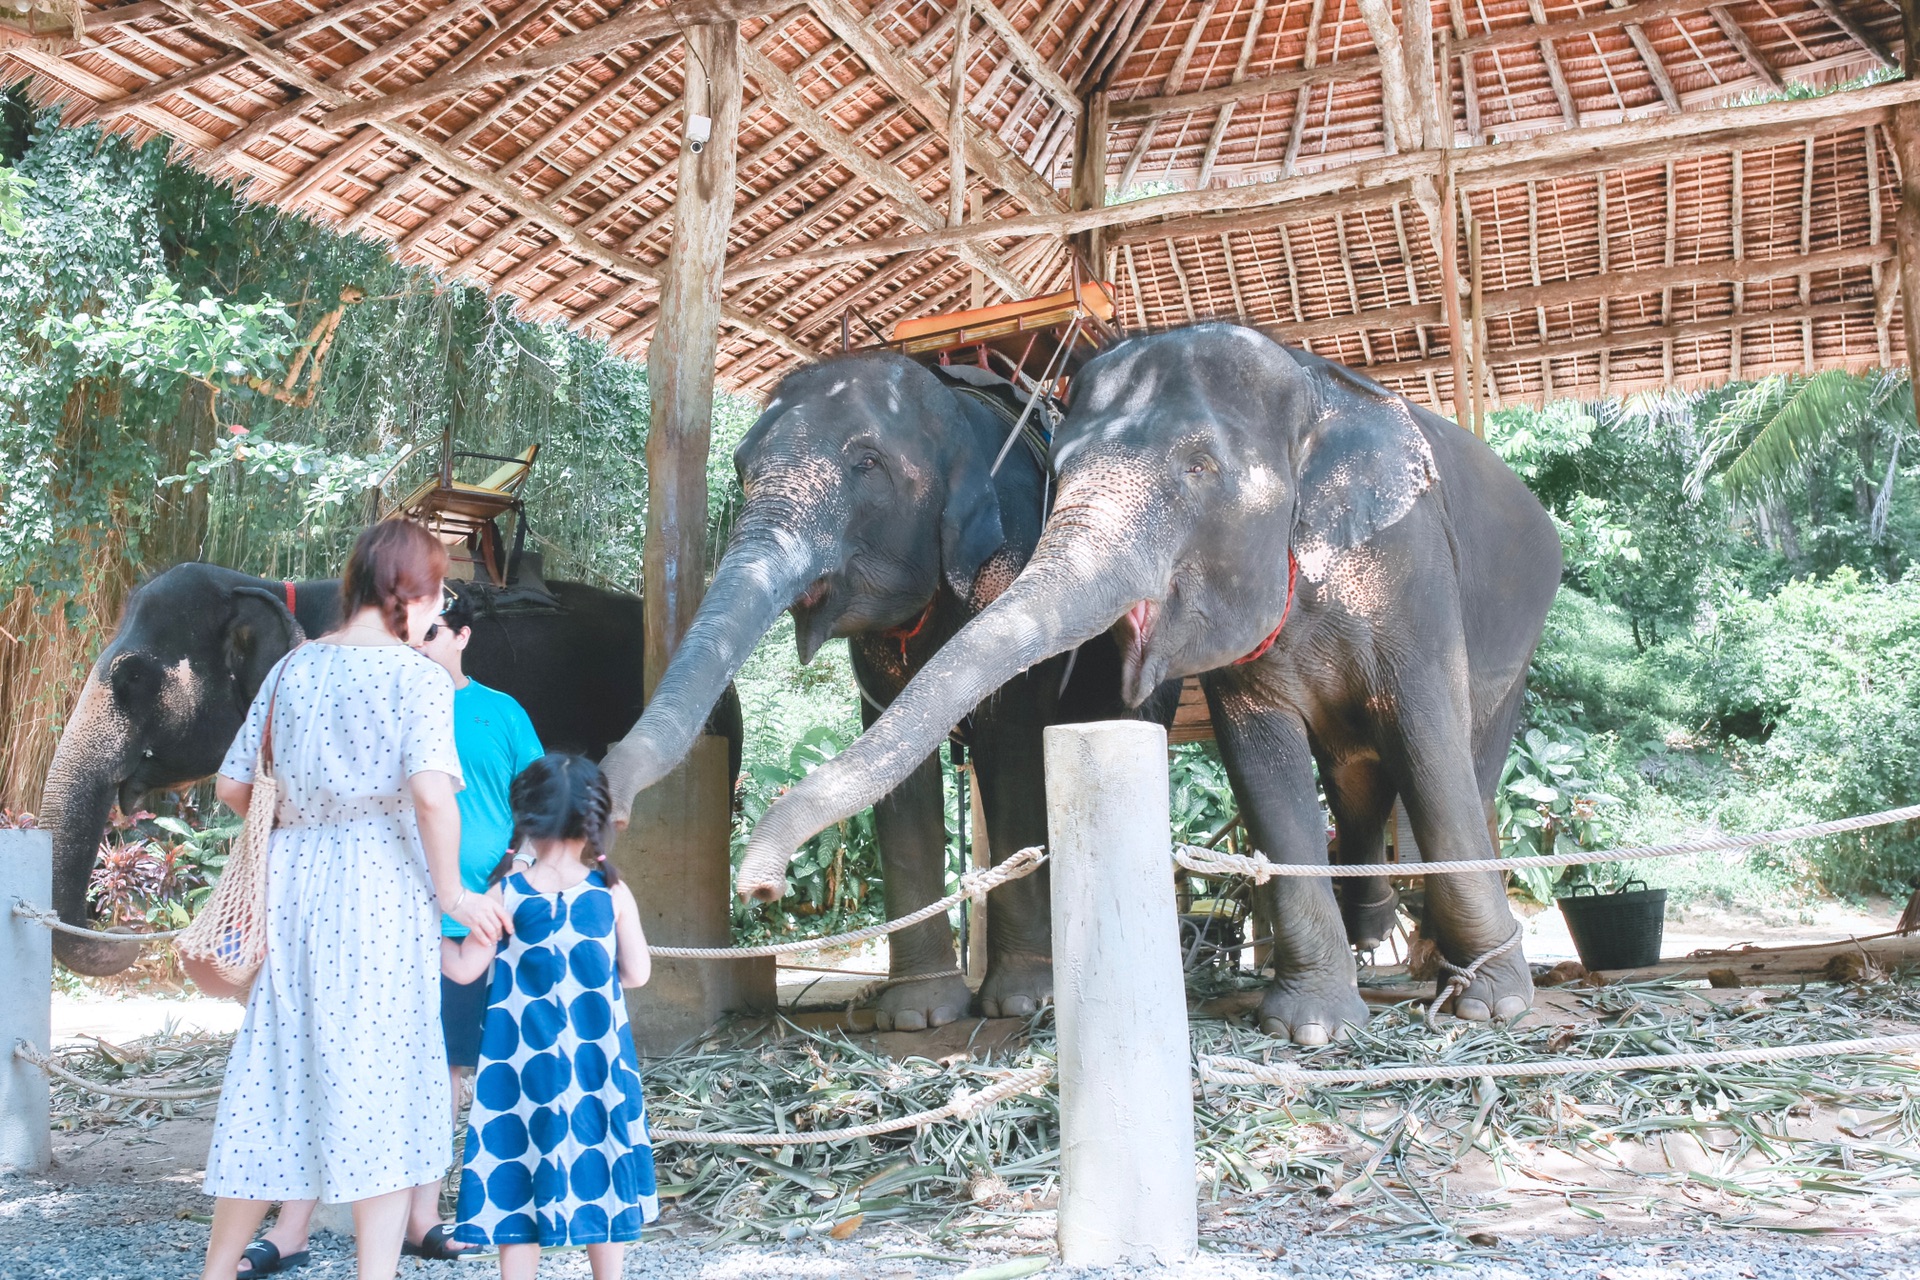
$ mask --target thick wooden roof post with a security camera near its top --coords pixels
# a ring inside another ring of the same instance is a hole
[[[689,27],[687,119],[712,121],[703,150],[682,138],[674,246],[660,274],[660,322],[647,349],[647,697],[687,633],[705,591],[707,449],[712,434],[720,280],[733,223],[739,138],[739,23]],[[691,125],[685,127],[691,134]]]

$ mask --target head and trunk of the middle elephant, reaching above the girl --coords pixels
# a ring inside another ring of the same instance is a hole
[[[996,418],[900,355],[789,374],[733,453],[747,501],[701,608],[601,764],[614,812],[680,764],[781,612],[808,662],[833,637],[914,626],[943,585],[979,603],[1010,581],[1010,533],[1033,545],[1039,497],[1020,516],[1029,528],[1002,524],[998,443]]]

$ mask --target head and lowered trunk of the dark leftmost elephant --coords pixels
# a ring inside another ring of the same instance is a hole
[[[321,593],[338,612],[338,589]],[[46,773],[40,825],[54,835],[63,921],[88,923],[86,885],[109,810],[213,773],[267,672],[300,639],[280,593],[211,564],[175,566],[129,597]],[[127,944],[61,933],[54,954],[94,975],[138,958]]]

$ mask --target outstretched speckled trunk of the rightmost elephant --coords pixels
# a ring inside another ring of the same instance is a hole
[[[739,867],[741,896],[780,898],[787,862],[806,839],[887,796],[1020,672],[1100,635],[1164,589],[1152,585],[1150,557],[1123,555],[1139,528],[1135,512],[1104,503],[1069,509],[1066,487],[1060,503],[1006,593],[947,641],[866,733],[768,808]]]

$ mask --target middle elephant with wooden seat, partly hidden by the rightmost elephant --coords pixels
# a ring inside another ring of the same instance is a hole
[[[747,654],[791,610],[801,660],[849,637],[862,716],[872,723],[908,677],[1006,589],[1041,535],[1046,468],[1016,443],[993,461],[1021,407],[1002,378],[977,368],[929,370],[891,353],[845,355],[787,376],[733,453],[745,507],[699,614],[634,731],[603,768],[614,812],[687,752],[714,699]],[[947,729],[973,752],[995,860],[1046,839],[1041,731],[1133,712],[1119,699],[1119,652],[1089,635],[1075,658],[1043,654],[1006,670],[960,706],[941,733],[891,762],[874,804],[887,915],[945,892],[947,825],[935,750]],[[1135,702],[1164,722],[1179,687]],[[1052,994],[1046,881],[993,892],[989,1017],[1025,1015]],[[945,917],[889,938],[891,975],[876,1021],[918,1031],[964,1015],[966,981]]]

